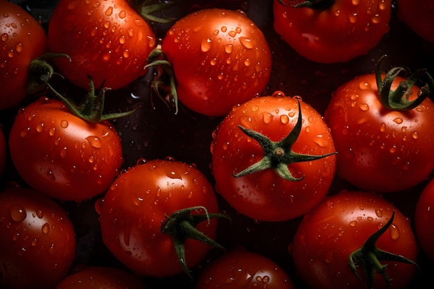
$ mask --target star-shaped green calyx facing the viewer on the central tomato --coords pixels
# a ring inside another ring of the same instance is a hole
[[[298,102],[298,119],[293,130],[281,141],[271,141],[268,137],[264,136],[259,132],[250,130],[248,128],[243,128],[238,126],[248,137],[258,141],[263,149],[264,156],[257,163],[252,164],[248,168],[245,168],[239,173],[233,174],[234,177],[242,177],[243,175],[248,175],[250,173],[256,173],[261,170],[266,170],[272,168],[275,170],[277,175],[286,179],[287,181],[300,181],[304,176],[297,178],[288,169],[289,164],[298,163],[302,161],[314,161],[316,159],[322,159],[323,157],[328,157],[329,155],[336,154],[337,152],[331,152],[326,155],[303,155],[297,152],[293,152],[292,147],[295,141],[297,141],[300,132],[302,130],[302,109],[300,107],[300,100],[297,98]]]

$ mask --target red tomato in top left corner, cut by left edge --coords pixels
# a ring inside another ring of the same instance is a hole
[[[26,10],[4,0],[0,6],[0,110],[4,110],[24,100],[28,66],[47,46],[44,29]]]

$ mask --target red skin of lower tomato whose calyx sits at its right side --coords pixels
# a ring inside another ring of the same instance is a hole
[[[141,276],[166,277],[197,265],[210,249],[207,243],[185,235],[195,227],[186,222],[175,224],[182,232],[165,234],[162,230],[168,220],[175,220],[168,216],[177,212],[189,218],[201,213],[204,222],[196,224],[197,230],[210,239],[216,237],[217,222],[208,223],[198,206],[206,208],[210,216],[218,211],[216,195],[205,175],[180,161],[155,159],[121,173],[96,203],[96,210],[101,216],[103,241],[119,261]],[[180,213],[189,208],[196,208],[191,215],[189,211]]]

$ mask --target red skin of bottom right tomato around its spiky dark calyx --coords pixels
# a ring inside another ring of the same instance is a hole
[[[376,271],[380,269],[375,268],[377,264],[390,279],[390,288],[406,288],[415,277],[417,267],[414,263],[403,262],[400,257],[394,260],[372,247],[365,247],[368,250],[365,254],[375,252],[378,259],[372,259],[371,255],[365,256],[366,263],[361,262],[363,259],[354,260],[361,279],[349,266],[350,254],[361,249],[372,234],[385,226],[393,212],[392,225],[374,245],[379,250],[416,260],[417,243],[410,220],[392,203],[375,193],[342,191],[325,198],[300,222],[293,241],[297,275],[309,288],[389,288],[385,277]],[[372,286],[364,269],[372,270],[370,273],[374,274]]]

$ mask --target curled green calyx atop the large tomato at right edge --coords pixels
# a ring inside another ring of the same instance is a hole
[[[379,89],[380,101],[384,107],[390,110],[412,110],[424,101],[434,91],[434,80],[426,69],[419,69],[415,73],[411,74],[405,81],[401,81],[397,89],[392,90],[392,82],[399,75],[399,73],[406,72],[403,67],[394,67],[385,74],[383,79],[381,73],[381,61],[385,58],[383,55],[376,64],[375,77],[376,85]],[[426,81],[422,78],[425,77]],[[416,98],[410,100],[412,96],[411,88],[417,82],[422,83],[422,87],[417,94]]]

